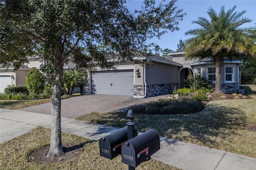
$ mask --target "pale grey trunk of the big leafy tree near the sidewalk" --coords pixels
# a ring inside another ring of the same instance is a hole
[[[56,82],[52,86],[52,127],[50,138],[50,150],[46,157],[55,157],[64,153],[61,141],[61,82],[63,77],[63,62],[62,62],[62,50],[56,50],[56,58],[52,63],[56,66],[58,71],[56,75]]]

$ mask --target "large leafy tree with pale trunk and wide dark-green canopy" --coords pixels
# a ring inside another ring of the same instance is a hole
[[[132,60],[130,49],[145,48],[148,38],[178,30],[184,13],[174,4],[145,0],[130,11],[125,0],[3,0],[0,4],[2,67],[18,69],[27,56],[41,55],[42,70],[52,75],[52,128],[48,157],[63,153],[60,127],[63,65],[113,68],[111,59]],[[99,50],[98,44],[108,50]],[[118,52],[118,56],[106,51]],[[116,58],[117,57],[117,58]],[[116,60],[113,60],[116,61]]]

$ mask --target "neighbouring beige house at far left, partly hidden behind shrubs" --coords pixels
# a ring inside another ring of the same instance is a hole
[[[0,67],[0,93],[4,93],[4,89],[8,85],[22,86],[26,85],[26,76],[28,71],[32,68],[40,69],[40,65],[44,63],[40,57],[28,57],[29,63],[24,64],[23,67],[18,69],[15,73],[12,72],[13,68],[10,67],[7,71],[5,68]],[[64,64],[63,69],[74,69],[74,63]],[[80,88],[76,88],[73,93],[80,92]]]

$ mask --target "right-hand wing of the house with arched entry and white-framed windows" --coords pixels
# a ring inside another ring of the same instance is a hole
[[[200,74],[211,82],[212,87],[215,87],[215,63],[212,59],[185,61],[183,50],[170,53],[172,61],[181,63],[183,66],[179,69],[179,88],[184,87],[184,79],[188,76],[189,69],[193,74]],[[224,59],[221,66],[220,88],[226,93],[244,93],[241,89],[241,71],[242,61],[233,59],[232,61]]]

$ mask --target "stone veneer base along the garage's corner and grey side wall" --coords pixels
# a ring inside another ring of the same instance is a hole
[[[178,83],[147,85],[146,97],[170,94],[177,89]],[[134,96],[144,96],[145,85],[134,85]]]

